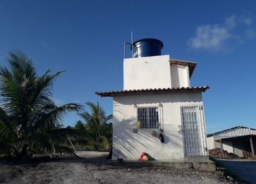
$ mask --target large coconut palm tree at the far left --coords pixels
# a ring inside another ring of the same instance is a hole
[[[0,155],[75,155],[65,146],[74,130],[63,128],[61,120],[81,106],[56,106],[52,98],[53,81],[63,71],[38,76],[31,59],[21,52],[11,52],[8,62],[10,69],[0,66]]]

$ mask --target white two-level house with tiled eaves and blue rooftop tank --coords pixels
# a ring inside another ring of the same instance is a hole
[[[135,57],[123,60],[123,90],[96,92],[113,97],[112,159],[208,156],[202,92],[209,87],[191,87],[197,63],[162,56],[162,47],[153,38],[133,43]]]

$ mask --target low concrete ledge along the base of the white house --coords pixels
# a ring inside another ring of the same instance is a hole
[[[123,160],[117,162],[113,160],[113,165],[137,167],[137,168],[165,168],[165,169],[197,169],[203,171],[216,171],[215,162],[211,160],[150,160],[142,162],[139,160]]]

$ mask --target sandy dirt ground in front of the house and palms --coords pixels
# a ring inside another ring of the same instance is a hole
[[[226,183],[221,173],[196,170],[124,168],[110,165],[108,153],[82,151],[81,159],[0,162],[0,183]]]

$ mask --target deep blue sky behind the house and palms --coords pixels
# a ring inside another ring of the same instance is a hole
[[[58,105],[112,99],[95,91],[123,88],[123,43],[157,38],[163,55],[198,62],[191,86],[203,94],[207,133],[256,128],[255,1],[0,2],[0,64],[22,50],[37,73],[66,69],[54,83]],[[63,123],[80,120],[69,114]]]

